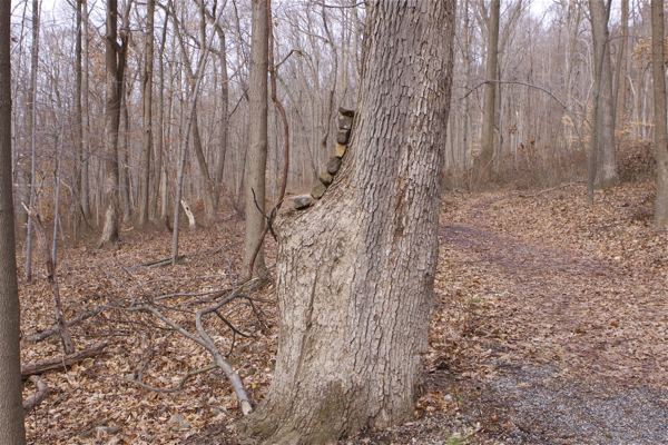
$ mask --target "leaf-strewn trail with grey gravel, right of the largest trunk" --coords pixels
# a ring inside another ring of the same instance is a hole
[[[495,200],[440,231],[450,279],[487,278],[477,313],[489,317],[492,370],[473,417],[498,422],[475,442],[668,443],[666,283],[642,265],[549,244],[547,233],[500,230]]]

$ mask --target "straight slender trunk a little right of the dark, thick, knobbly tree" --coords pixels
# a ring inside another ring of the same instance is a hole
[[[144,53],[144,146],[141,148],[141,177],[139,180],[139,226],[148,222],[148,191],[150,176],[150,157],[153,147],[153,59],[154,59],[154,16],[156,1],[146,3],[146,47]]]

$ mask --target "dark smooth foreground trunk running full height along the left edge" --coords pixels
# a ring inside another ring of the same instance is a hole
[[[21,307],[11,184],[11,1],[0,1],[0,444],[23,445]]]

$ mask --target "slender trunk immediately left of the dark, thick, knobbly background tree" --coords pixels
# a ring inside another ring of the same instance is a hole
[[[90,187],[88,166],[90,159],[90,107],[88,105],[88,1],[81,3],[81,126],[84,130],[84,159],[81,160],[81,210],[86,219],[90,219]]]

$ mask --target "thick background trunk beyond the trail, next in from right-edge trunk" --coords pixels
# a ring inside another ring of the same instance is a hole
[[[608,20],[610,1],[589,0],[595,53],[593,108],[591,116],[590,154],[593,187],[606,189],[619,182],[615,146],[615,103]],[[590,178],[591,179],[591,178]]]

